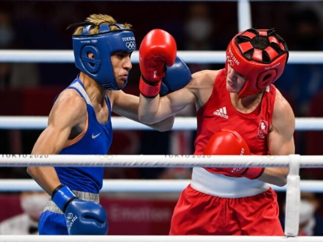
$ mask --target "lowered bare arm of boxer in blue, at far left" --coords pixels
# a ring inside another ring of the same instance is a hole
[[[62,93],[48,116],[48,127],[37,139],[32,154],[58,154],[66,144],[71,129],[86,116],[86,104],[80,96]],[[68,114],[68,115],[67,115]],[[27,172],[49,195],[61,182],[53,167],[28,167]]]

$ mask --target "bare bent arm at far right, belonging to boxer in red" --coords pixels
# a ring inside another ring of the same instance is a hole
[[[270,154],[294,154],[295,144],[293,134],[295,130],[295,116],[291,106],[278,90],[272,126],[273,131],[269,133],[267,138]],[[258,179],[277,186],[284,186],[286,185],[287,175],[288,168],[266,167]]]

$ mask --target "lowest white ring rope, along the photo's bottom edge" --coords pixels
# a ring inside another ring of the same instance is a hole
[[[0,235],[0,242],[322,242],[323,236]]]

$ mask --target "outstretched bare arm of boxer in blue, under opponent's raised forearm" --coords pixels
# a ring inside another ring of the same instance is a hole
[[[127,117],[131,120],[134,120],[136,122],[142,123],[138,118],[138,107],[139,107],[139,97],[127,94],[120,91],[108,91],[107,95],[109,96],[112,105],[112,110],[119,115],[122,115],[124,117]],[[171,130],[173,128],[174,124],[174,116],[170,116],[164,120],[161,120],[160,122],[157,122],[155,124],[147,125],[148,127],[151,127],[157,131],[164,132]]]

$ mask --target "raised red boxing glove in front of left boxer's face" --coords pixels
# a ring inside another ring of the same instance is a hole
[[[165,64],[173,66],[176,58],[174,37],[161,29],[153,29],[143,38],[139,47],[141,78],[139,90],[145,97],[153,98],[160,91],[161,79],[165,76]]]

